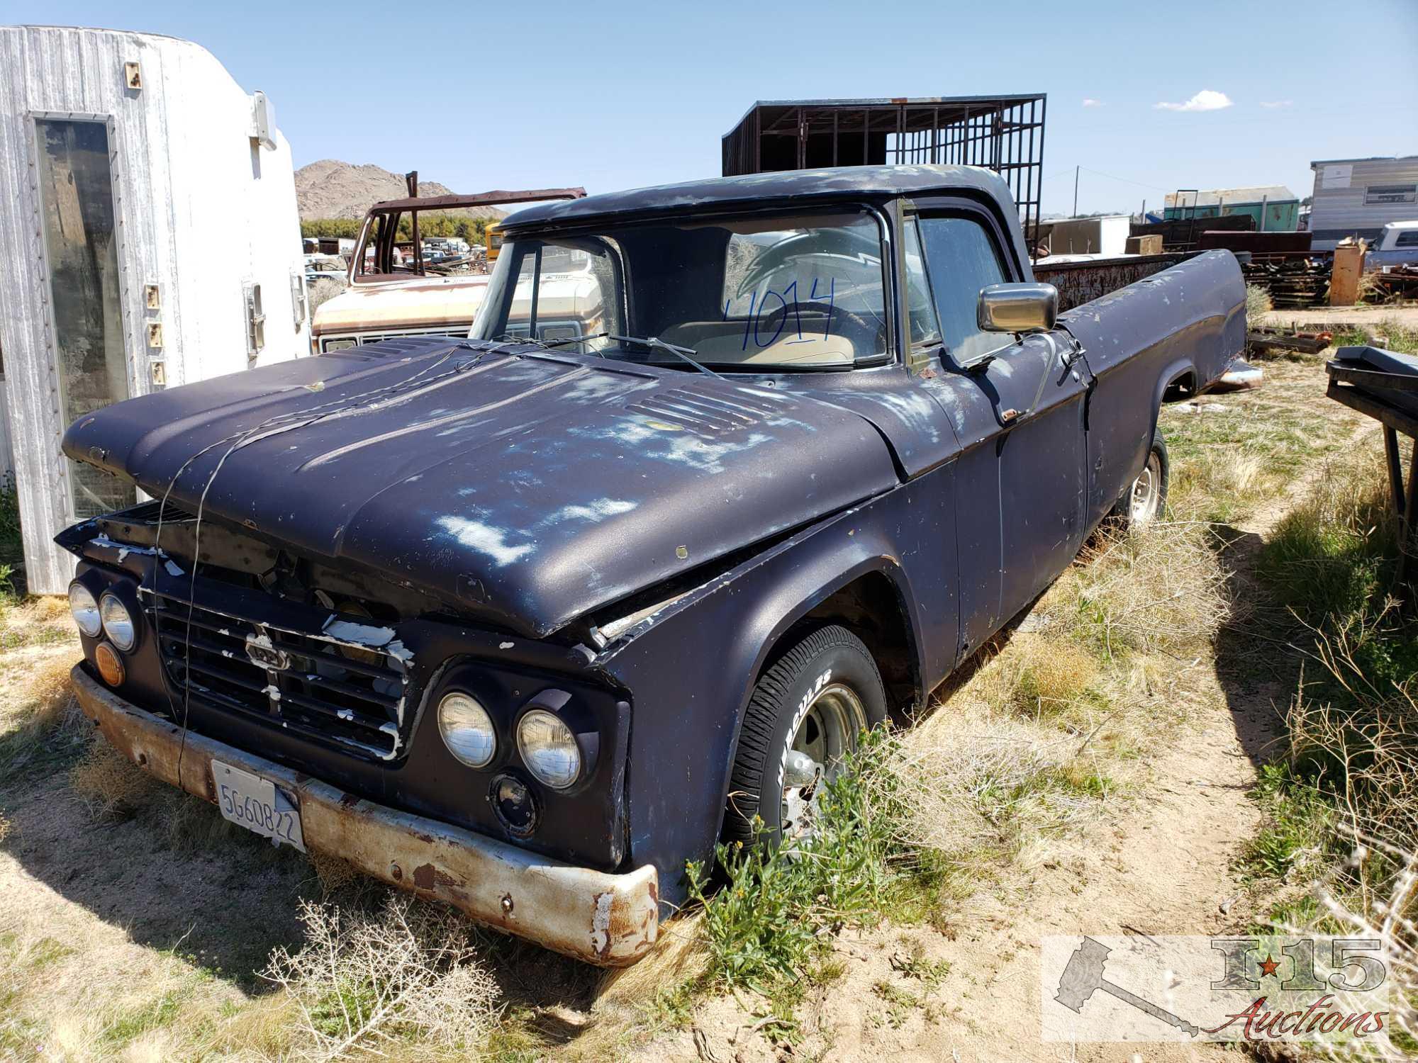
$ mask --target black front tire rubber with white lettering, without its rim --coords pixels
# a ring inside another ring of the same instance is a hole
[[[886,719],[886,689],[862,641],[838,625],[803,635],[763,673],[753,687],[739,734],[725,812],[726,840],[776,845],[783,839],[783,774],[793,740],[830,712],[830,703],[849,703],[842,690],[856,700],[844,716],[855,716],[855,709],[861,709],[861,719],[847,736],[848,748],[855,748],[861,730]],[[811,799],[811,789],[795,792],[798,798]],[[761,833],[754,826],[754,816],[763,821]],[[801,823],[788,826],[793,833]]]

